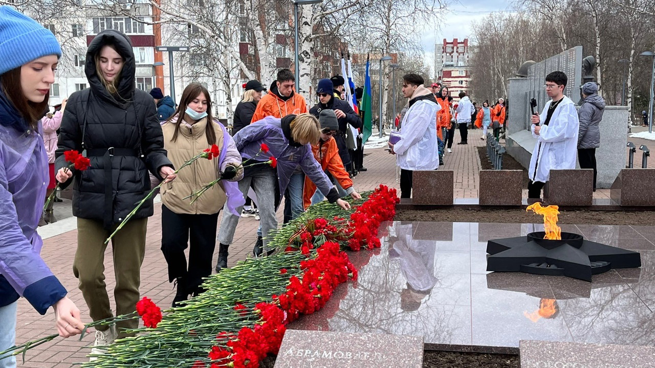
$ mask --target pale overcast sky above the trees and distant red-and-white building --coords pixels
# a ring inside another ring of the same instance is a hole
[[[491,12],[508,11],[511,0],[460,0],[449,5],[449,11],[443,16],[443,24],[438,29],[423,32],[421,44],[426,62],[434,64],[434,43],[436,40],[470,38],[472,24]]]

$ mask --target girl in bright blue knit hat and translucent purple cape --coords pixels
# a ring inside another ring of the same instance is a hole
[[[40,24],[0,7],[0,351],[14,345],[16,305],[25,297],[40,313],[54,308],[59,335],[81,333],[79,309],[39,252],[37,224],[48,187],[48,156],[39,119],[62,55]],[[16,163],[20,164],[16,164]],[[0,357],[0,368],[16,359]]]

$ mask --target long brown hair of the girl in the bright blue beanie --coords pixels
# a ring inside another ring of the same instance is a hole
[[[18,113],[25,119],[31,130],[36,130],[38,121],[48,109],[48,99],[50,92],[45,95],[43,102],[35,103],[29,101],[23,94],[23,88],[20,85],[20,68],[16,67],[0,75],[0,84],[2,84],[5,96],[9,98]]]

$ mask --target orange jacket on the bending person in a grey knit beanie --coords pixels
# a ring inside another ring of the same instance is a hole
[[[337,141],[334,138],[330,137],[327,142],[319,141],[318,144],[312,145],[312,152],[314,152],[316,161],[321,164],[321,168],[332,174],[343,189],[352,187],[352,179],[350,179],[348,172],[343,167],[343,162],[339,156],[339,147],[337,147]],[[303,205],[305,206],[305,210],[312,204],[314,192],[316,192],[316,184],[305,175],[305,189],[303,189]]]

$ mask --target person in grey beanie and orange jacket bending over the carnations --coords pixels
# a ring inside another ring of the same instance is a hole
[[[352,179],[346,172],[343,166],[341,157],[339,156],[339,148],[337,141],[334,140],[333,135],[339,131],[339,120],[333,110],[322,110],[318,115],[318,121],[321,123],[321,136],[318,143],[312,145],[312,152],[314,158],[321,164],[323,170],[329,172],[337,181],[346,193],[353,199],[361,199],[352,186]],[[303,206],[305,210],[311,205],[323,200],[324,196],[320,191],[316,191],[316,184],[314,184],[308,176],[305,176],[305,186],[303,189]]]

